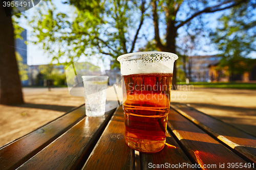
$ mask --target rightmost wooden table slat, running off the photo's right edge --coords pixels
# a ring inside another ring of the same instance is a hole
[[[171,107],[256,164],[256,137],[186,105],[172,104]]]

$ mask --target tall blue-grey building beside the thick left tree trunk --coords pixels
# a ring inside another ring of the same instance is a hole
[[[23,64],[28,65],[27,62],[27,30],[24,30],[20,36],[22,37],[22,39],[17,38],[14,41],[14,45],[15,45],[15,52],[19,53],[19,55],[22,57],[23,59]],[[28,71],[28,70],[27,70]],[[22,86],[28,86],[29,85],[29,80],[24,80],[22,81]]]

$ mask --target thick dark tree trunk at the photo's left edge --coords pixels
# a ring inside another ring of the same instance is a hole
[[[15,57],[14,33],[11,16],[6,17],[0,7],[0,104],[22,104],[22,85]]]

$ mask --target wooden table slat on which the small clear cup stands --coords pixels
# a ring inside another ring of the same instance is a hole
[[[17,169],[79,169],[108,124],[111,110],[99,117],[84,117],[45,149]]]

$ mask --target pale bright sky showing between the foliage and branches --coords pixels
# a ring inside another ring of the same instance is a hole
[[[41,2],[40,2],[41,3]],[[55,4],[57,10],[59,12],[63,12],[63,13],[67,13],[68,11],[71,11],[72,8],[69,7],[69,5],[67,4],[62,4],[61,1],[53,1],[53,3]],[[25,12],[23,12],[23,14],[26,14],[27,16],[33,15],[33,13],[36,13],[36,8],[31,8]],[[216,27],[218,25],[218,21],[217,18],[220,16],[220,13],[216,13],[215,15],[211,15],[211,27]],[[148,25],[148,23],[144,23],[145,25]],[[150,23],[149,23],[150,24]],[[27,21],[25,19],[21,19],[20,23],[19,23],[20,27],[23,27],[24,29],[27,30],[27,38],[30,38],[31,32],[33,31],[32,28],[29,27],[29,24],[27,23]],[[144,27],[146,28],[146,27]],[[141,30],[141,32],[143,31],[148,31],[148,30]],[[151,30],[152,31],[152,30]],[[178,30],[179,31],[179,30]],[[182,31],[182,30],[180,30]],[[154,34],[154,32],[153,32]],[[143,41],[143,40],[142,40]],[[202,44],[205,44],[207,40],[202,40]],[[144,42],[142,42],[144,43]],[[218,51],[216,50],[212,50],[213,47],[209,46],[209,45],[203,45],[203,49],[204,51],[197,51],[196,53],[198,55],[215,55],[218,53]],[[205,52],[207,51],[207,52]],[[256,53],[251,54],[252,58],[256,58]],[[38,44],[32,44],[30,42],[28,42],[27,45],[27,61],[28,61],[28,65],[40,65],[40,64],[49,64],[51,62],[51,57],[48,56],[47,53],[45,53],[45,51],[41,48],[40,45]],[[104,60],[105,62],[105,69],[110,69],[109,64],[110,64],[110,60],[106,59]]]

